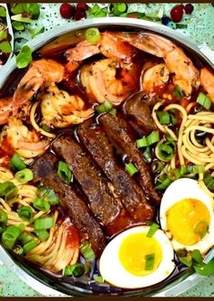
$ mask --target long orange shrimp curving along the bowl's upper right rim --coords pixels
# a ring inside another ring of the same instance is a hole
[[[142,51],[162,57],[172,75],[174,85],[178,85],[185,95],[191,95],[193,90],[199,87],[199,70],[183,50],[168,39],[147,33],[118,33],[117,36]]]

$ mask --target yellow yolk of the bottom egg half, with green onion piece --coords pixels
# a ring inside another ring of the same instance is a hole
[[[147,276],[153,273],[162,260],[162,249],[157,239],[147,233],[127,236],[119,248],[119,261],[128,273]]]

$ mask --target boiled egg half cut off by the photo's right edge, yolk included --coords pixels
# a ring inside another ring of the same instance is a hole
[[[214,246],[212,199],[189,178],[174,181],[160,205],[160,225],[175,250],[198,249],[205,255]]]

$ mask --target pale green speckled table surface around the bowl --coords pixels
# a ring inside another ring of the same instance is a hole
[[[1,5],[1,4],[0,4]],[[141,11],[146,13],[158,12],[162,7],[165,14],[168,14],[172,5],[129,5],[130,11]],[[185,35],[189,35],[190,39],[198,44],[206,43],[210,49],[214,50],[214,7],[210,4],[194,5],[195,9],[192,15],[186,15],[183,23],[188,24],[187,29],[179,29]],[[37,26],[45,25],[46,30],[58,24],[65,24],[67,21],[58,15],[59,5],[42,5],[41,15]],[[35,26],[36,26],[35,25]],[[48,26],[47,26],[48,25]],[[31,25],[32,26],[32,25]],[[15,37],[25,37],[27,33],[16,33]],[[0,258],[1,259],[1,258]],[[26,286],[25,283],[15,276],[0,261],[0,296],[39,296],[35,290]],[[181,296],[214,296],[214,276],[206,276],[201,278],[197,286],[189,289]]]

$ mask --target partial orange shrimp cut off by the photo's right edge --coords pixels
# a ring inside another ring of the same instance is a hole
[[[214,74],[207,67],[200,70],[200,82],[214,103]]]

